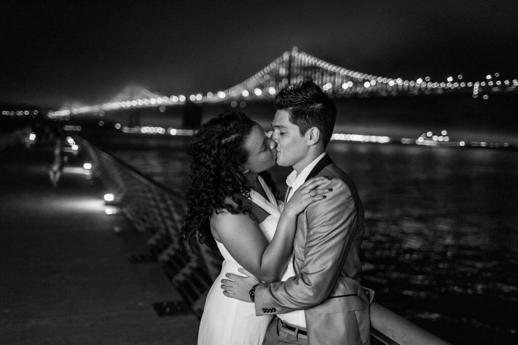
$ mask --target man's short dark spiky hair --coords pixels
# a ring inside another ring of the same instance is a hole
[[[275,96],[275,108],[289,113],[290,122],[298,126],[300,135],[311,127],[320,129],[327,146],[336,121],[336,106],[312,80],[290,84]]]

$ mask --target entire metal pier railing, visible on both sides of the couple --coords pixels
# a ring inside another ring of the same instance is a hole
[[[202,316],[207,293],[219,275],[222,257],[198,243],[193,256],[186,244],[179,243],[178,232],[186,212],[185,200],[175,192],[136,171],[123,161],[90,145],[92,169],[113,188],[116,202],[137,231],[147,235],[147,246],[198,318]],[[376,302],[370,305],[371,335],[384,344],[447,344]],[[376,342],[376,341],[375,341]]]

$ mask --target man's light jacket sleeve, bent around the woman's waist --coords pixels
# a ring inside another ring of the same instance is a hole
[[[333,291],[355,236],[357,211],[351,190],[336,178],[333,192],[306,209],[308,232],[299,274],[255,289],[256,315],[307,309]]]

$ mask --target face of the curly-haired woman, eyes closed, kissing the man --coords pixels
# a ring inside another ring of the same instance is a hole
[[[244,141],[244,149],[248,152],[244,168],[253,173],[260,173],[275,166],[277,158],[275,147],[275,141],[266,136],[260,124],[255,123],[247,140]]]

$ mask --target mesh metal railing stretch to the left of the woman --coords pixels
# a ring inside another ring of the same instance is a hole
[[[150,254],[194,314],[201,317],[208,290],[221,270],[223,259],[199,243],[189,255],[186,244],[179,242],[186,212],[184,199],[84,139],[75,139],[92,156],[92,171],[112,191],[113,203],[146,236]]]

